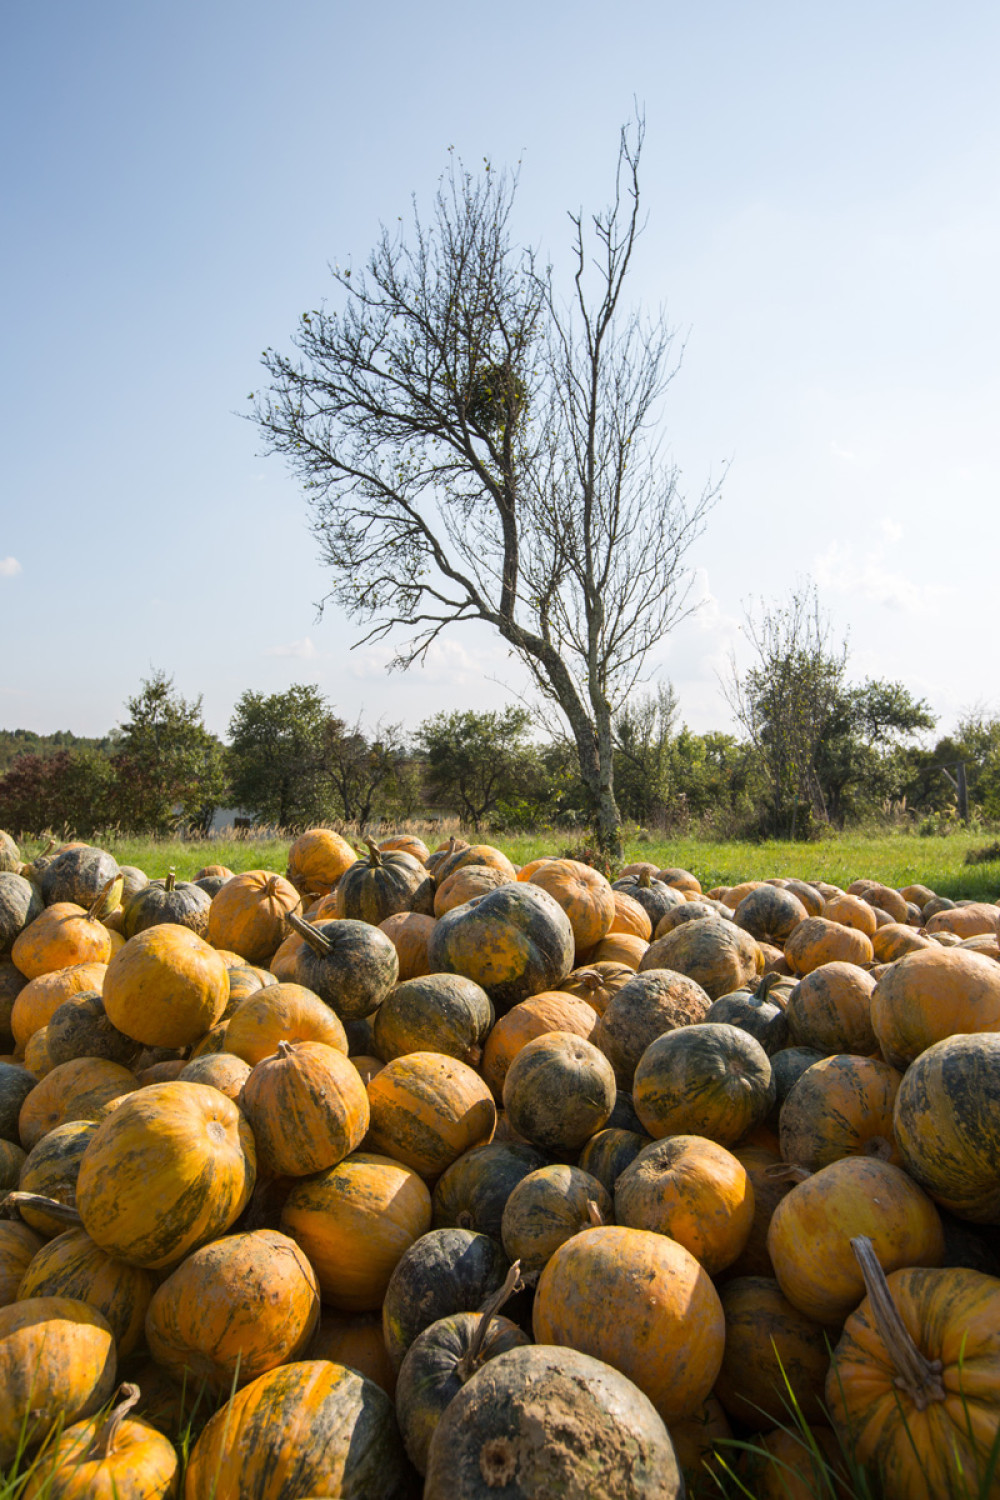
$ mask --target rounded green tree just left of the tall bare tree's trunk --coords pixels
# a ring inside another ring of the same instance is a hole
[[[435,802],[454,807],[474,828],[499,802],[525,788],[528,726],[525,708],[477,714],[456,710],[424,718],[417,742],[426,756],[427,789]]]

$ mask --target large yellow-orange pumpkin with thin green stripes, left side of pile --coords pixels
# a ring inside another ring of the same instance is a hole
[[[255,1178],[253,1136],[231,1100],[201,1083],[154,1083],[94,1131],[76,1208],[109,1254],[166,1269],[225,1234]]]

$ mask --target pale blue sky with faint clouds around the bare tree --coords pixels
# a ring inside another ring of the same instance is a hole
[[[244,688],[295,681],[411,728],[507,700],[484,628],[388,676],[316,621],[304,501],[238,414],[448,147],[520,160],[517,230],[558,266],[633,99],[631,291],[685,342],[670,450],[691,492],[729,462],[705,606],[652,666],[723,728],[744,603],[808,574],[855,676],[942,729],[1000,710],[999,54],[985,3],[7,6],[0,726],[102,734],[153,668],[220,734]]]

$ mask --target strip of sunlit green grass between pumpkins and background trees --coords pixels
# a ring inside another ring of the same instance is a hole
[[[432,848],[441,838],[441,830],[429,830],[426,824],[411,824],[408,831],[423,837]],[[565,831],[517,836],[475,834],[457,830],[457,826],[454,831],[471,843],[495,843],[514,864],[526,864],[528,860],[546,854],[579,852],[583,846],[582,836]],[[151,879],[174,868],[178,879],[189,880],[205,864],[223,864],[237,872],[283,872],[291,838],[183,842],[108,836],[93,842],[114,854],[120,864],[135,864],[145,870]],[[982,830],[934,837],[900,832],[844,832],[817,843],[777,840],[768,843],[711,843],[702,838],[658,838],[643,834],[627,842],[624,862],[649,860],[661,868],[681,866],[691,870],[706,891],[714,885],[736,885],[739,880],[763,879],[772,874],[829,880],[832,885],[843,886],[867,876],[892,886],[927,885],[939,896],[948,896],[952,900],[960,897],[997,900],[1000,898],[1000,860],[990,860],[984,864],[964,862],[970,849],[994,843],[996,837]],[[40,843],[25,843],[22,856],[30,858],[40,848]]]

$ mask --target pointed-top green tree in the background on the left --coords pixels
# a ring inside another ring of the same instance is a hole
[[[121,825],[144,832],[207,830],[225,795],[225,756],[204,726],[201,698],[187,702],[172,678],[156,670],[126,708],[112,756]]]

